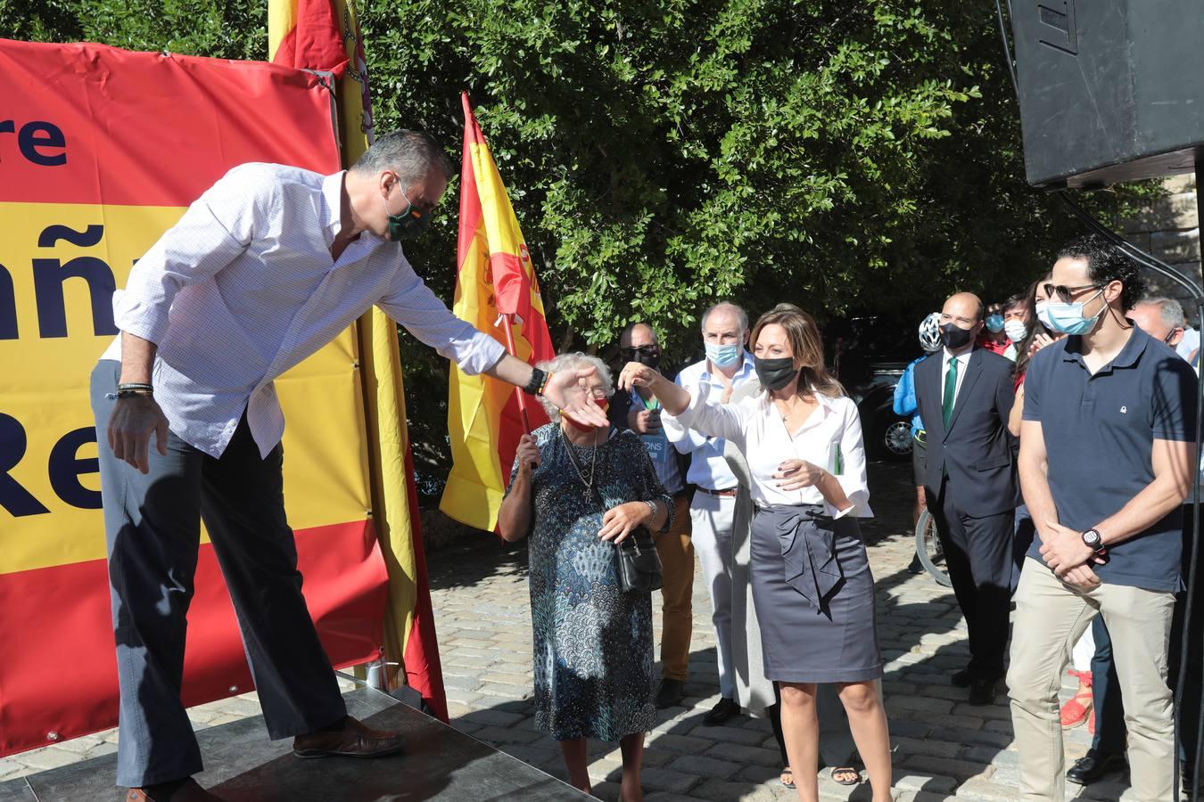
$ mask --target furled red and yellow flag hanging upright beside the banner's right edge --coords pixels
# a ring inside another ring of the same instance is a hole
[[[372,143],[367,63],[354,0],[270,0],[272,60],[330,72],[336,81],[343,166]],[[438,718],[448,718],[419,530],[418,489],[406,426],[397,326],[373,308],[355,322],[367,408],[372,517],[389,570],[384,620],[390,685],[408,684]]]

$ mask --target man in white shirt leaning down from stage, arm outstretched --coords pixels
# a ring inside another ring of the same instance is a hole
[[[606,423],[579,386],[590,372],[549,375],[506,355],[406,261],[395,240],[425,230],[452,173],[415,131],[382,136],[334,176],[235,167],[114,295],[122,333],[93,372],[92,403],[120,683],[117,782],[130,802],[218,798],[191,779],[201,756],[179,700],[202,516],[270,736],[293,736],[301,758],[401,749],[395,733],[347,715],[301,595],[278,375],[378,304],[466,373]]]

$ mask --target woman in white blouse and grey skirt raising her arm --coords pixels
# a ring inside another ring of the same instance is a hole
[[[810,315],[778,304],[752,328],[762,392],[738,404],[690,391],[632,362],[619,386],[648,387],[666,414],[736,444],[752,471],[752,600],[765,673],[781,687],[781,724],[803,802],[819,798],[815,684],[836,683],[873,802],[891,798],[890,737],[874,580],[857,518],[868,518],[857,406],[824,368]]]

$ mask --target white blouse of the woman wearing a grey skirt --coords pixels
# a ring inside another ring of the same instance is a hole
[[[707,436],[726,438],[739,447],[752,473],[752,500],[756,504],[822,504],[833,518],[846,515],[873,517],[866,481],[866,446],[861,441],[861,416],[851,398],[815,393],[819,406],[790,436],[781,414],[767,392],[731,404],[720,404],[709,399],[708,394],[707,385],[692,391],[690,405],[675,420]],[[662,415],[674,417],[668,412]],[[778,483],[784,480],[774,479],[773,474],[787,459],[805,459],[827,469],[840,482],[852,505],[837,510],[814,487],[780,489]]]

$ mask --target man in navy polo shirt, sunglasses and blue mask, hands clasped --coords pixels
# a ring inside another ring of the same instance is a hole
[[[1143,289],[1137,266],[1103,238],[1069,243],[1047,310],[1070,337],[1038,351],[1025,379],[1020,481],[1037,539],[1016,590],[1008,687],[1028,802],[1063,798],[1058,687],[1070,644],[1097,613],[1112,636],[1132,798],[1171,798],[1167,647],[1197,380],[1125,317]]]

